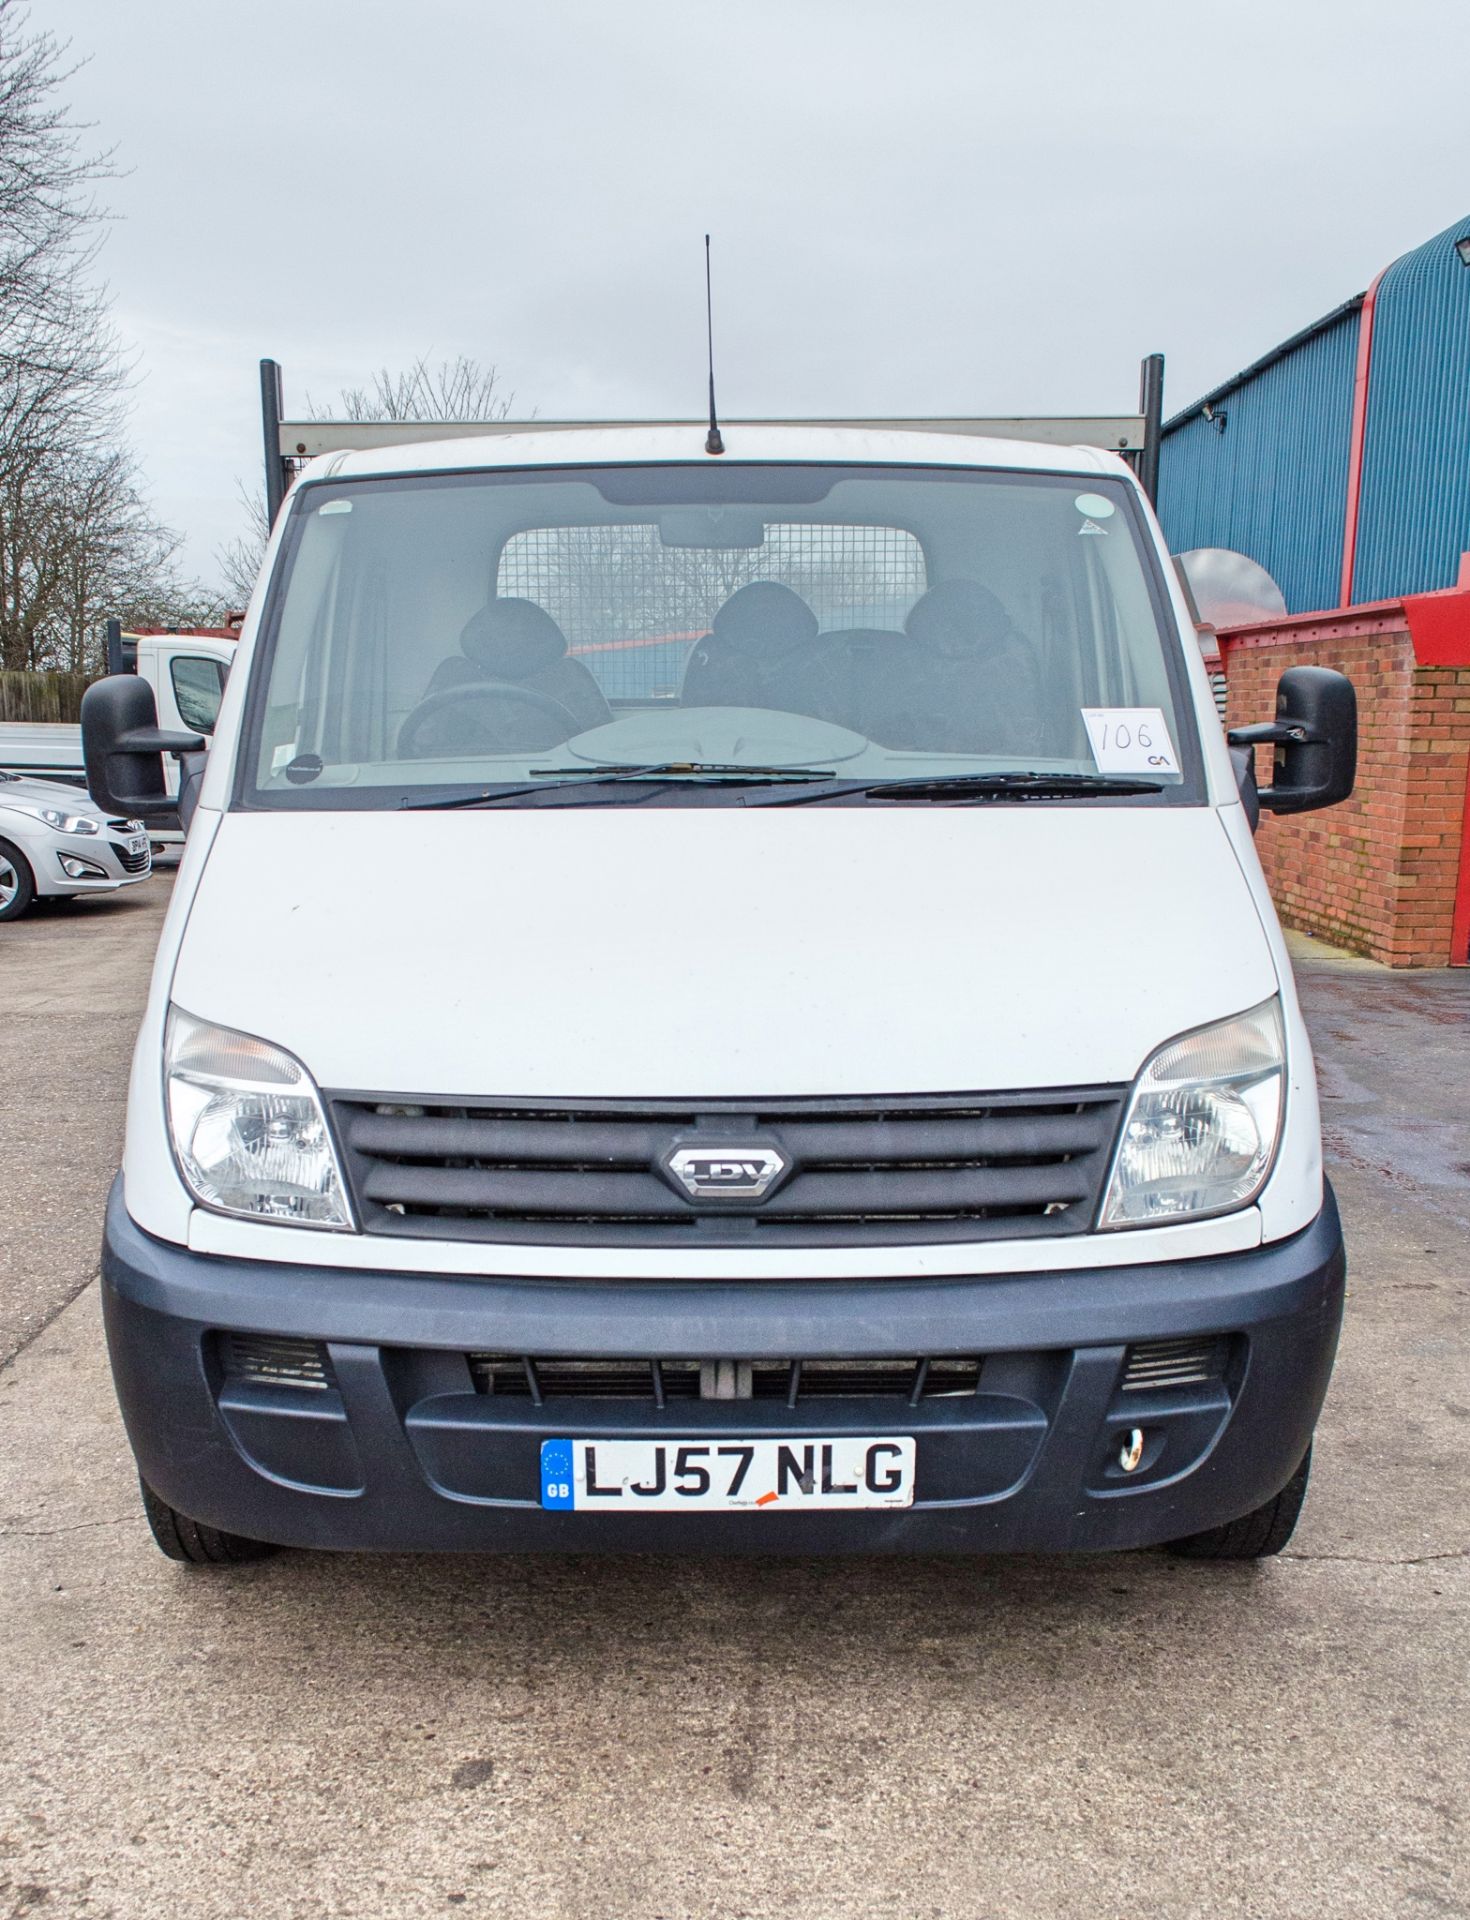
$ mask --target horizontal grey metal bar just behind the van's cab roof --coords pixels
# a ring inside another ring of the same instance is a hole
[[[274,361],[263,361],[274,367]],[[263,374],[265,384],[265,374]],[[311,459],[317,453],[372,451],[374,447],[418,445],[430,440],[499,440],[507,434],[574,434],[624,426],[704,428],[704,420],[280,420],[274,422],[278,461]],[[1140,453],[1146,445],[1142,413],[1084,417],[1006,417],[1006,419],[787,419],[723,420],[723,426],[856,426],[904,434],[975,434],[990,440],[1032,440],[1057,447],[1105,447],[1109,453]],[[267,455],[271,444],[267,444]],[[267,461],[267,465],[271,465]]]

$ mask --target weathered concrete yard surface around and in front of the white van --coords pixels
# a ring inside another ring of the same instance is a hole
[[[0,929],[0,1916],[1470,1914],[1468,975],[1301,948],[1353,1283],[1278,1561],[194,1574],[88,1284],[165,885]]]

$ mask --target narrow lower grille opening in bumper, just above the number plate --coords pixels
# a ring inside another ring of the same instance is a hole
[[[530,1400],[921,1400],[973,1396],[981,1361],[969,1359],[555,1359],[468,1354],[476,1392]]]

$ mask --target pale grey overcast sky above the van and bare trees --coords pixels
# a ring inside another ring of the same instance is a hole
[[[1173,411],[1470,211],[1464,0],[36,0],[213,574],[288,413],[418,353],[543,417]]]

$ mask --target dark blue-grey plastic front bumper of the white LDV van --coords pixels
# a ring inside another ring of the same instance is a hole
[[[560,1551],[1036,1551],[1155,1546],[1292,1476],[1338,1344],[1328,1190],[1290,1240],[1211,1260],[942,1281],[522,1281],[190,1254],[107,1204],[113,1379],[148,1484],[282,1546]],[[223,1332],[320,1342],[328,1390],[242,1380]],[[1219,1377],[1123,1392],[1128,1348],[1226,1336]],[[555,1398],[474,1390],[472,1352],[533,1357],[984,1356],[979,1390],[908,1400]],[[1121,1476],[1121,1438],[1148,1432]],[[917,1438],[915,1503],[856,1513],[549,1513],[545,1438]]]

